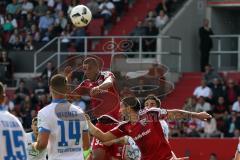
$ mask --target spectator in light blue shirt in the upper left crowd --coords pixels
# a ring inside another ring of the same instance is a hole
[[[54,18],[51,16],[51,11],[48,10],[45,15],[40,17],[38,27],[41,35],[44,34],[50,26],[53,26]]]

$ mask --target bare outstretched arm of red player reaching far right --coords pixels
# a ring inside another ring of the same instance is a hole
[[[208,119],[211,119],[212,116],[208,114],[207,112],[189,112],[179,109],[171,109],[167,110],[167,118],[170,120],[178,120],[178,119],[191,119],[191,118],[197,118],[202,121],[206,121]]]

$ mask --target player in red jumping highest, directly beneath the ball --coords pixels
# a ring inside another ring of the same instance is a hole
[[[71,69],[69,69],[71,72]],[[102,106],[101,113],[105,115],[99,116],[99,101],[91,99],[90,109],[95,118],[98,118],[96,126],[103,132],[107,132],[116,127],[119,119],[120,101],[119,95],[115,87],[115,77],[110,71],[100,71],[100,67],[96,58],[88,57],[83,61],[83,71],[86,79],[72,92],[72,95],[81,95],[83,88],[90,88],[90,96],[95,96],[103,91],[108,91],[111,96],[115,96],[118,102],[111,109]],[[66,72],[66,71],[65,71]],[[65,73],[66,74],[66,73]],[[68,75],[69,77],[69,75]],[[110,95],[109,95],[110,96]],[[110,98],[110,97],[109,97]],[[111,99],[111,98],[110,98]],[[108,101],[110,101],[110,99]],[[105,110],[104,110],[105,109]],[[104,146],[98,139],[92,141],[92,159],[107,160],[120,159],[122,145]]]

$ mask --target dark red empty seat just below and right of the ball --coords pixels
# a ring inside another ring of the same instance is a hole
[[[103,34],[104,20],[102,18],[93,19],[87,28],[89,36],[101,36]]]

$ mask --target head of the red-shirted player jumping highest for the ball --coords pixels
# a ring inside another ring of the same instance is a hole
[[[99,64],[96,58],[88,57],[83,61],[83,71],[90,80],[96,80],[99,74]]]

